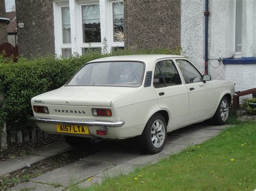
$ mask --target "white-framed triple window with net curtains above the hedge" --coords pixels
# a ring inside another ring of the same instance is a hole
[[[53,3],[56,54],[86,54],[124,48],[124,3],[120,0],[58,0]],[[105,46],[106,47],[106,46]]]

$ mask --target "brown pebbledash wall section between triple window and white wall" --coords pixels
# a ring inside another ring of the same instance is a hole
[[[180,47],[180,0],[124,1],[124,46]]]

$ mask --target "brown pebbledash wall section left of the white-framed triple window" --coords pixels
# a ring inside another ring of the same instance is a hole
[[[52,0],[16,0],[19,55],[55,53]]]

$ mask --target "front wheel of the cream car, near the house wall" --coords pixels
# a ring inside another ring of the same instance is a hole
[[[211,122],[216,125],[224,125],[227,121],[229,112],[230,112],[230,102],[228,101],[228,98],[224,96],[220,100],[218,108],[215,111],[214,116],[211,118]]]

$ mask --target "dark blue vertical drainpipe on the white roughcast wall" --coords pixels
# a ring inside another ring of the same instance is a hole
[[[210,12],[208,10],[208,0],[205,0],[205,74],[208,74],[208,16]]]

